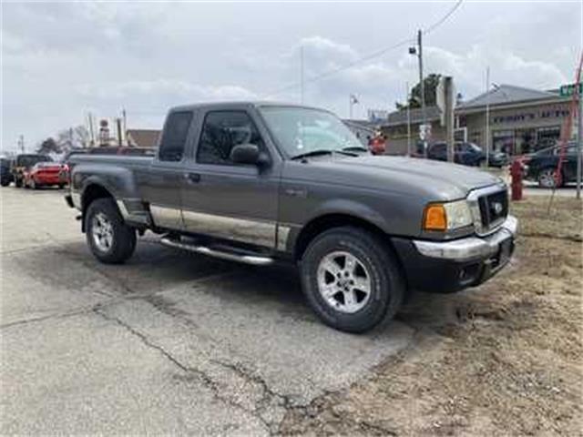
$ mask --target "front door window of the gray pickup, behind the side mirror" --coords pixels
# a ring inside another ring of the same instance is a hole
[[[239,144],[250,143],[260,149],[265,148],[257,127],[246,112],[210,112],[205,117],[200,134],[197,162],[232,166],[231,149]]]

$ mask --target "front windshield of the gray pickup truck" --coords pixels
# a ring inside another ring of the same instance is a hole
[[[290,158],[312,152],[366,152],[351,130],[331,113],[307,107],[261,107],[271,134]]]

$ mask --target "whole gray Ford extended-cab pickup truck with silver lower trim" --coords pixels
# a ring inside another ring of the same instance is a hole
[[[71,158],[66,201],[93,254],[120,263],[137,235],[256,266],[297,265],[338,330],[390,319],[409,290],[481,284],[514,250],[506,186],[418,158],[373,157],[332,113],[274,103],[169,111],[154,158]]]

